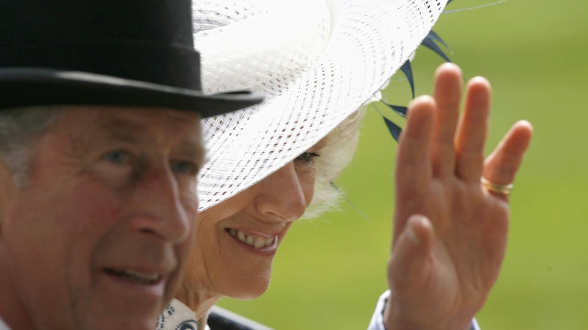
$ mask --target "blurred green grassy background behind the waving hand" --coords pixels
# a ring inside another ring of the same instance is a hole
[[[447,10],[483,3],[456,0]],[[588,1],[509,0],[445,13],[434,28],[466,78],[493,85],[488,152],[515,121],[535,128],[515,181],[500,278],[477,315],[483,330],[588,329],[587,13]],[[430,93],[441,62],[417,52],[416,94]],[[386,99],[409,101],[402,75]],[[358,152],[337,180],[365,216],[346,203],[297,222],[267,293],[220,305],[276,329],[365,329],[386,289],[395,152],[383,120],[368,111]]]

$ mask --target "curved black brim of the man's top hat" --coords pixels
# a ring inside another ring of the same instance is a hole
[[[206,95],[198,90],[43,68],[0,70],[0,109],[27,106],[125,106],[195,111],[211,117],[253,106],[260,94]]]

